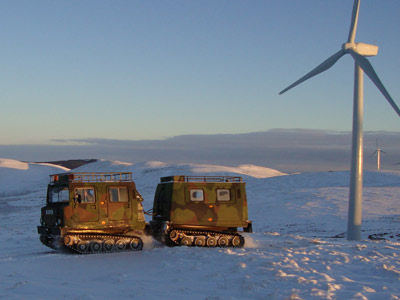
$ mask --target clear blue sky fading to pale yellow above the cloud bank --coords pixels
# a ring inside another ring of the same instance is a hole
[[[351,0],[0,2],[0,144],[272,128],[350,131]],[[400,1],[363,0],[356,41],[400,105]],[[364,129],[400,119],[365,78]]]

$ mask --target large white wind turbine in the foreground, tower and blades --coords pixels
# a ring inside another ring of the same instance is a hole
[[[360,0],[355,0],[351,25],[347,43],[342,45],[342,49],[329,57],[311,72],[297,80],[295,83],[281,91],[279,94],[295,87],[303,81],[318,75],[332,67],[343,55],[350,54],[355,61],[354,72],[354,103],[353,103],[353,138],[350,172],[350,193],[349,193],[349,215],[347,223],[347,239],[359,241],[361,239],[361,208],[362,208],[362,175],[363,175],[363,71],[368,75],[383,96],[400,116],[400,110],[392,97],[383,86],[376,75],[372,65],[365,56],[375,56],[378,54],[378,46],[364,43],[355,43],[358,12]]]

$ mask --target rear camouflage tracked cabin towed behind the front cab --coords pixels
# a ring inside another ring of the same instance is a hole
[[[252,232],[241,177],[169,176],[157,186],[153,237],[169,245],[242,247]]]

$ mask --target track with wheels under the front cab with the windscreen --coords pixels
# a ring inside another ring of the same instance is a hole
[[[73,239],[75,238],[75,239],[78,240],[77,242],[74,242],[73,245],[68,245],[68,244],[66,244],[66,243],[64,243],[64,245],[65,245],[67,248],[69,248],[69,249],[71,249],[72,251],[74,251],[74,252],[76,252],[76,253],[79,253],[79,254],[98,254],[98,253],[115,253],[115,252],[140,251],[140,250],[142,250],[142,248],[143,248],[143,241],[142,241],[142,239],[141,239],[140,237],[138,237],[138,236],[106,235],[106,234],[104,234],[104,235],[103,235],[103,234],[94,234],[94,235],[88,235],[88,234],[67,234],[67,235],[64,237],[64,239],[65,239],[66,237],[70,237],[70,238],[73,238]],[[133,249],[133,248],[130,247],[130,241],[131,241],[132,239],[136,239],[136,240],[138,241],[138,243],[139,243],[138,247],[135,248],[135,249]],[[114,247],[113,247],[113,250],[111,250],[111,251],[107,251],[107,250],[105,250],[104,247],[103,247],[104,241],[107,241],[107,240],[113,240],[113,241],[114,241]],[[124,249],[118,249],[118,247],[116,246],[116,242],[117,242],[118,240],[125,240],[125,242],[128,241],[127,243],[125,243]],[[88,249],[87,249],[87,251],[81,251],[80,249],[77,248],[78,243],[81,242],[81,241],[87,242],[87,243],[88,243]],[[102,243],[101,243],[101,250],[95,251],[95,252],[91,251],[91,243],[92,243],[92,242],[98,242],[98,241],[101,241],[101,242],[102,242]]]

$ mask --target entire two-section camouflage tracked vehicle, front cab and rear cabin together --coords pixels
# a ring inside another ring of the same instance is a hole
[[[153,219],[132,173],[50,175],[41,209],[40,240],[78,253],[141,250],[152,233],[169,245],[241,247],[238,228],[252,232],[245,183],[231,176],[169,176],[157,186]]]

